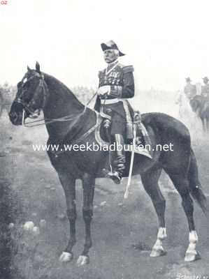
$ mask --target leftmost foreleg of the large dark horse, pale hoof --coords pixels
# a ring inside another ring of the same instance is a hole
[[[70,239],[64,252],[59,257],[60,262],[70,262],[73,259],[73,246],[75,245],[75,220],[76,220],[76,207],[75,207],[75,179],[68,174],[59,174],[59,180],[64,188],[66,196],[67,216],[70,223]]]

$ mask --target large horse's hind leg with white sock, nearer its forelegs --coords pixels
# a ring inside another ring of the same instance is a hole
[[[166,252],[162,246],[164,239],[166,239],[166,226],[165,226],[165,209],[166,200],[159,189],[158,180],[161,174],[161,169],[151,169],[145,174],[141,175],[141,180],[145,191],[154,205],[154,209],[157,212],[157,217],[159,220],[159,230],[157,234],[157,241],[154,243],[150,257],[159,257],[165,255]]]

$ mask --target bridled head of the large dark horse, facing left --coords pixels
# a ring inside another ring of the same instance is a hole
[[[17,84],[17,93],[9,113],[10,121],[14,125],[21,125],[27,117],[36,117],[45,107],[48,95],[48,86],[36,62],[36,70],[27,67],[27,73]]]

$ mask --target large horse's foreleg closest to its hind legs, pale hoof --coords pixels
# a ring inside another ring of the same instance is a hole
[[[92,247],[91,222],[93,216],[93,200],[94,200],[95,179],[89,174],[85,174],[82,178],[83,188],[83,207],[82,216],[85,222],[85,244],[82,254],[78,258],[78,266],[89,264],[89,249]]]

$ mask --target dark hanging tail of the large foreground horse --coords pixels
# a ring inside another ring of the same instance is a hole
[[[209,218],[208,199],[204,195],[201,187],[201,183],[199,181],[198,167],[192,149],[190,152],[190,165],[189,165],[188,179],[189,179],[189,190],[190,193],[192,194],[192,197],[194,197],[196,202],[199,204],[199,206],[203,210],[203,213],[205,213],[206,217]]]

